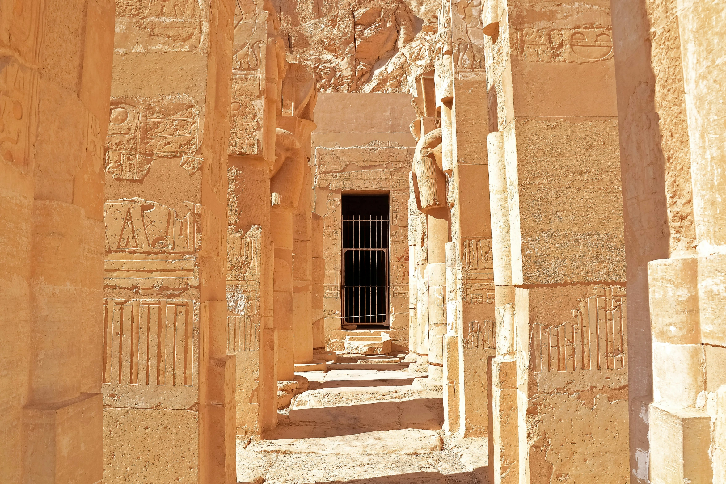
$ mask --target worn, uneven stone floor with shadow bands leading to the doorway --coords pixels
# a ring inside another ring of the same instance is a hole
[[[309,389],[278,427],[237,440],[237,482],[488,483],[486,439],[445,435],[441,394],[416,384],[404,356],[342,354],[327,373],[301,373]]]

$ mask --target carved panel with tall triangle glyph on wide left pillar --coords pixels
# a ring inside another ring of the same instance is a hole
[[[141,198],[109,200],[104,205],[106,251],[191,254],[202,245],[202,206],[184,202],[187,213]]]

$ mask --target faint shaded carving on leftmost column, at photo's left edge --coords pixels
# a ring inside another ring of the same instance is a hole
[[[36,70],[0,57],[0,157],[23,172],[30,160],[37,90]]]

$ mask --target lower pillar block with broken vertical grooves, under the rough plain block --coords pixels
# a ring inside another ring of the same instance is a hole
[[[519,452],[541,482],[629,475],[624,303],[619,286],[516,289]]]

